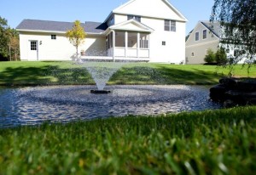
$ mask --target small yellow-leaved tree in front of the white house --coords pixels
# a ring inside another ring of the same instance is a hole
[[[79,60],[79,45],[84,42],[84,38],[86,37],[84,28],[81,26],[79,20],[74,21],[73,28],[66,32],[66,37],[76,48],[77,60]]]

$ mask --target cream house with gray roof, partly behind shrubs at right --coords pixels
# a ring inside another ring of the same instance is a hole
[[[221,27],[218,21],[208,20],[199,21],[193,31],[189,32],[186,38],[186,64],[204,64],[207,50],[212,49],[214,53],[219,48],[225,48],[227,58],[236,57],[238,50],[230,46],[223,45],[221,42]],[[243,63],[242,59],[239,63]]]

